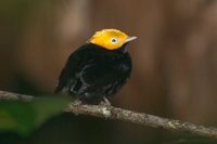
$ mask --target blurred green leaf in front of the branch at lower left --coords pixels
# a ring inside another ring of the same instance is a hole
[[[62,113],[71,101],[63,97],[38,97],[33,102],[0,101],[0,131],[28,135],[49,118]]]

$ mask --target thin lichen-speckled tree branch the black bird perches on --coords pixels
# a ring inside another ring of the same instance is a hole
[[[31,95],[16,94],[5,91],[0,91],[0,100],[21,100],[33,101],[35,97]],[[208,128],[201,125],[191,122],[182,122],[180,120],[174,120],[168,118],[162,118],[158,116],[148,115],[144,113],[131,112],[114,106],[102,105],[76,105],[72,103],[65,112],[73,114],[89,115],[94,117],[101,117],[106,119],[115,119],[137,123],[140,126],[149,126],[154,128],[164,128],[174,131],[186,131],[192,134],[215,138],[217,139],[217,128]]]

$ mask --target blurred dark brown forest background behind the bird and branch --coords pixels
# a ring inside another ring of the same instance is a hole
[[[0,90],[52,93],[67,56],[103,28],[138,37],[131,78],[113,105],[217,126],[216,0],[1,0]],[[217,143],[192,139],[72,114],[28,138],[0,133],[1,144]]]

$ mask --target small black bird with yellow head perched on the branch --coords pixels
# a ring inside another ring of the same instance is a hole
[[[95,31],[68,56],[54,92],[85,104],[111,104],[107,99],[130,77],[132,64],[127,45],[135,39],[114,28]]]

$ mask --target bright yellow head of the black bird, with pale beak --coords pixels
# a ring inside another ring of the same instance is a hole
[[[88,42],[100,45],[106,50],[117,50],[123,44],[135,40],[137,37],[129,37],[117,29],[103,29],[97,31]]]

